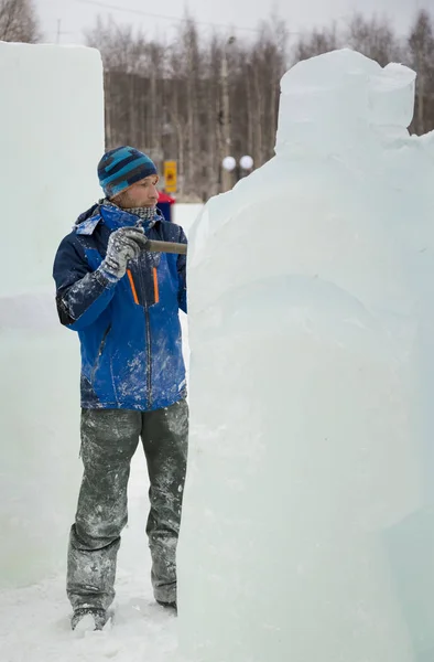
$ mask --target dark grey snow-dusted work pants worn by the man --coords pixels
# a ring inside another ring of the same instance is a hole
[[[82,410],[85,470],[67,568],[67,595],[74,609],[107,609],[113,600],[120,534],[128,520],[130,463],[140,437],[151,484],[147,533],[154,597],[176,601],[176,545],[188,437],[185,401],[155,412]]]

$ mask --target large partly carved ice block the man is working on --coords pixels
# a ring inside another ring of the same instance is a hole
[[[433,659],[433,161],[406,130],[414,79],[348,50],[296,65],[275,158],[192,229],[188,662]]]

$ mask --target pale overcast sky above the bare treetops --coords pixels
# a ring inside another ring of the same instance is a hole
[[[56,41],[59,21],[62,43],[80,43],[83,31],[94,25],[98,14],[133,23],[151,35],[171,38],[186,7],[202,22],[204,32],[211,30],[208,23],[214,23],[224,32],[225,25],[235,26],[239,36],[254,35],[252,30],[258,22],[273,10],[294,32],[332,21],[343,24],[354,11],[387,14],[397,30],[403,32],[417,9],[426,8],[434,13],[434,0],[35,0],[35,4],[46,41]]]

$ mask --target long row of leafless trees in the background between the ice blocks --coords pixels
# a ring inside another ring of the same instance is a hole
[[[413,130],[422,132],[434,128],[433,30],[421,12],[401,41],[386,19],[355,14],[345,30],[332,25],[299,39],[291,61],[349,45],[381,65],[405,62],[419,74]],[[98,20],[87,43],[105,63],[107,147],[134,145],[160,168],[176,160],[181,195],[205,197],[225,189],[224,156],[239,161],[247,153],[257,167],[272,157],[280,79],[289,67],[286,26],[279,18],[261,23],[248,41],[230,33],[204,39],[186,17],[169,44]]]

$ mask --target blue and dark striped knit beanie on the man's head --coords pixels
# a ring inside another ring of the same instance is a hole
[[[133,147],[117,147],[98,163],[99,183],[107,197],[118,195],[150,174],[156,174],[155,163]]]

